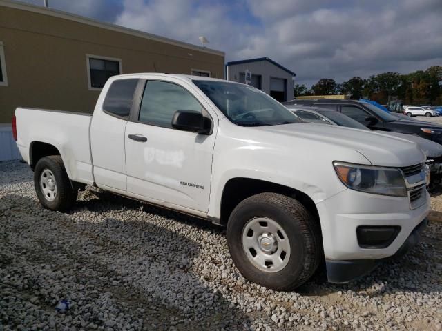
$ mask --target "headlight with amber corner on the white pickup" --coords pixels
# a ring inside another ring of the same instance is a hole
[[[373,194],[407,197],[407,188],[401,170],[338,161],[333,165],[340,181],[347,188]]]

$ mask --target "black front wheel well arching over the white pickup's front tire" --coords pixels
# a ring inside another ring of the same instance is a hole
[[[320,225],[316,205],[307,194],[285,185],[251,178],[233,178],[227,181],[222,192],[220,223],[222,225],[227,224],[231,212],[233,212],[233,209],[235,209],[238,203],[242,200],[264,192],[280,193],[298,200],[305,206],[305,208],[307,208],[307,210],[309,210],[309,212],[311,212],[311,214],[313,214],[318,225]]]

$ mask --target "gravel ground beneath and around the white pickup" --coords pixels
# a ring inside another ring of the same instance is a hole
[[[3,162],[0,330],[442,330],[442,196],[432,207],[402,259],[285,293],[240,275],[222,228],[95,188],[50,212],[28,166]]]

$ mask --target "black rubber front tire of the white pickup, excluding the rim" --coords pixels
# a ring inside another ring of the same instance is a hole
[[[242,245],[242,231],[256,217],[276,221],[287,234],[290,250],[282,270],[267,272],[257,268],[247,257]],[[298,288],[314,274],[323,259],[320,227],[299,201],[276,193],[261,193],[239,203],[227,223],[227,243],[233,262],[241,274],[273,290]]]

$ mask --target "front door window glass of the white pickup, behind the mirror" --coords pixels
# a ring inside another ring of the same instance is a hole
[[[140,122],[172,128],[173,114],[177,110],[202,112],[202,106],[189,91],[174,83],[146,83],[138,117]]]

